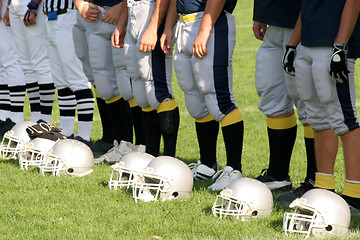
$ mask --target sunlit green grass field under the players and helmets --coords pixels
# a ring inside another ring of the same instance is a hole
[[[252,34],[252,4],[250,0],[238,1],[234,12],[234,93],[244,117],[242,163],[246,177],[256,177],[267,167],[269,155],[266,117],[257,108],[259,97],[254,85],[255,54],[261,42]],[[357,71],[356,79],[359,75]],[[199,150],[194,121],[175,78],[173,88],[181,114],[176,155],[186,163],[196,162]],[[59,125],[56,106],[52,123]],[[303,128],[298,126],[290,167],[295,187],[306,171]],[[92,138],[100,137],[96,112]],[[217,154],[223,168],[226,156],[221,133]],[[16,160],[0,160],[0,239],[289,239],[282,230],[284,210],[276,201],[271,216],[266,218],[245,222],[218,219],[211,213],[216,193],[207,190],[208,181],[195,182],[188,201],[135,203],[130,192],[109,190],[111,170],[109,165],[99,164],[92,174],[82,178],[53,177],[42,176],[35,168],[21,170]],[[345,177],[341,149],[335,174],[336,190],[341,193]],[[274,193],[274,198],[278,194]],[[350,233],[343,239],[359,239],[359,225],[360,218],[352,218]]]

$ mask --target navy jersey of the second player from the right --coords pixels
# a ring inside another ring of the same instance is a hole
[[[254,0],[253,20],[277,27],[294,28],[301,0]]]

